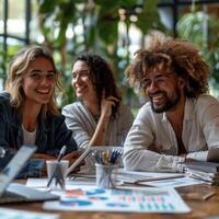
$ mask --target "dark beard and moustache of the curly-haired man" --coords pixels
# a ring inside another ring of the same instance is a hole
[[[152,99],[153,99],[152,96],[154,94],[159,94],[159,93],[163,93],[163,95],[164,95],[163,97],[165,99],[165,102],[163,104],[157,106],[152,102]],[[151,108],[155,113],[163,113],[163,112],[168,112],[168,111],[174,108],[181,100],[181,92],[180,92],[178,88],[175,88],[174,94],[172,96],[170,96],[170,95],[168,96],[168,93],[164,91],[155,92],[154,94],[149,95],[149,97],[150,97],[150,102],[151,102]]]

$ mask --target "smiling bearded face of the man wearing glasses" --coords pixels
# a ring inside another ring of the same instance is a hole
[[[155,113],[173,111],[184,95],[184,81],[174,72],[154,68],[142,80],[142,87]]]

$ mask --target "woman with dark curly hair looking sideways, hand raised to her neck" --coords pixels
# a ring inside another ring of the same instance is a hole
[[[79,55],[72,65],[72,87],[79,101],[65,106],[62,114],[78,146],[123,146],[132,114],[122,104],[107,62],[97,55]]]

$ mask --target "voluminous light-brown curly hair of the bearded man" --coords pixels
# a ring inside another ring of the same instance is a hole
[[[141,88],[142,79],[154,68],[175,72],[185,82],[185,95],[197,97],[208,92],[209,67],[199,50],[183,39],[155,38],[148,49],[139,49],[134,62],[126,69],[127,79],[132,87]],[[146,95],[146,92],[143,91]]]

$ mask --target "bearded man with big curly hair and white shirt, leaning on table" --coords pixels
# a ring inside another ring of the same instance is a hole
[[[207,94],[209,67],[191,43],[153,38],[127,68],[131,85],[149,99],[125,141],[130,170],[207,160],[219,147],[219,102]]]

